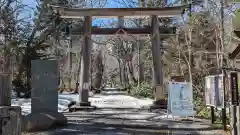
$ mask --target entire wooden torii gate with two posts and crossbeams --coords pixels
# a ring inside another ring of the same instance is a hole
[[[72,31],[73,35],[82,34],[84,36],[84,44],[82,46],[82,67],[80,75],[79,98],[80,106],[91,106],[88,98],[89,92],[89,63],[92,48],[91,35],[113,35],[118,34],[151,34],[152,35],[152,55],[154,65],[154,85],[155,100],[164,100],[163,96],[163,62],[161,49],[163,46],[160,42],[160,33],[169,33],[169,28],[160,28],[158,17],[173,17],[181,15],[184,6],[164,7],[164,8],[64,8],[52,6],[54,11],[61,18],[81,19],[84,18],[84,25],[79,30]],[[151,17],[151,27],[146,28],[98,28],[92,26],[92,17],[98,18],[139,18]],[[122,29],[122,31],[120,30]],[[171,28],[172,30],[174,28]],[[120,30],[120,31],[119,31]],[[161,49],[159,49],[161,48]],[[157,57],[156,57],[157,56]],[[158,61],[158,62],[157,62]]]

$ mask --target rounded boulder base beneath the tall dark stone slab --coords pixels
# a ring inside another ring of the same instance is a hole
[[[59,112],[33,113],[23,118],[23,130],[35,132],[64,126],[67,118]]]

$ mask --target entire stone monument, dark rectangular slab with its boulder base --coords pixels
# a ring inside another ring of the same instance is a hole
[[[58,112],[59,71],[57,60],[31,61],[31,114],[24,117],[25,131],[48,130],[67,124]]]

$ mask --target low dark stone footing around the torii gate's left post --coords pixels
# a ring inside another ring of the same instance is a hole
[[[96,110],[96,109],[97,107],[92,106],[91,102],[80,102],[79,104],[69,107],[69,112],[88,111],[88,110]]]

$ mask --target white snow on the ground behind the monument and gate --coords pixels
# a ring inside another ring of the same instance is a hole
[[[59,94],[58,111],[67,111],[67,106],[72,101],[79,101],[78,94],[70,94],[67,92]],[[93,95],[89,98],[89,101],[98,108],[141,108],[151,105],[153,102],[151,99],[137,99],[124,94],[115,95],[113,93]],[[24,115],[31,112],[31,99],[20,99],[13,96],[12,105],[21,106],[22,114]]]

